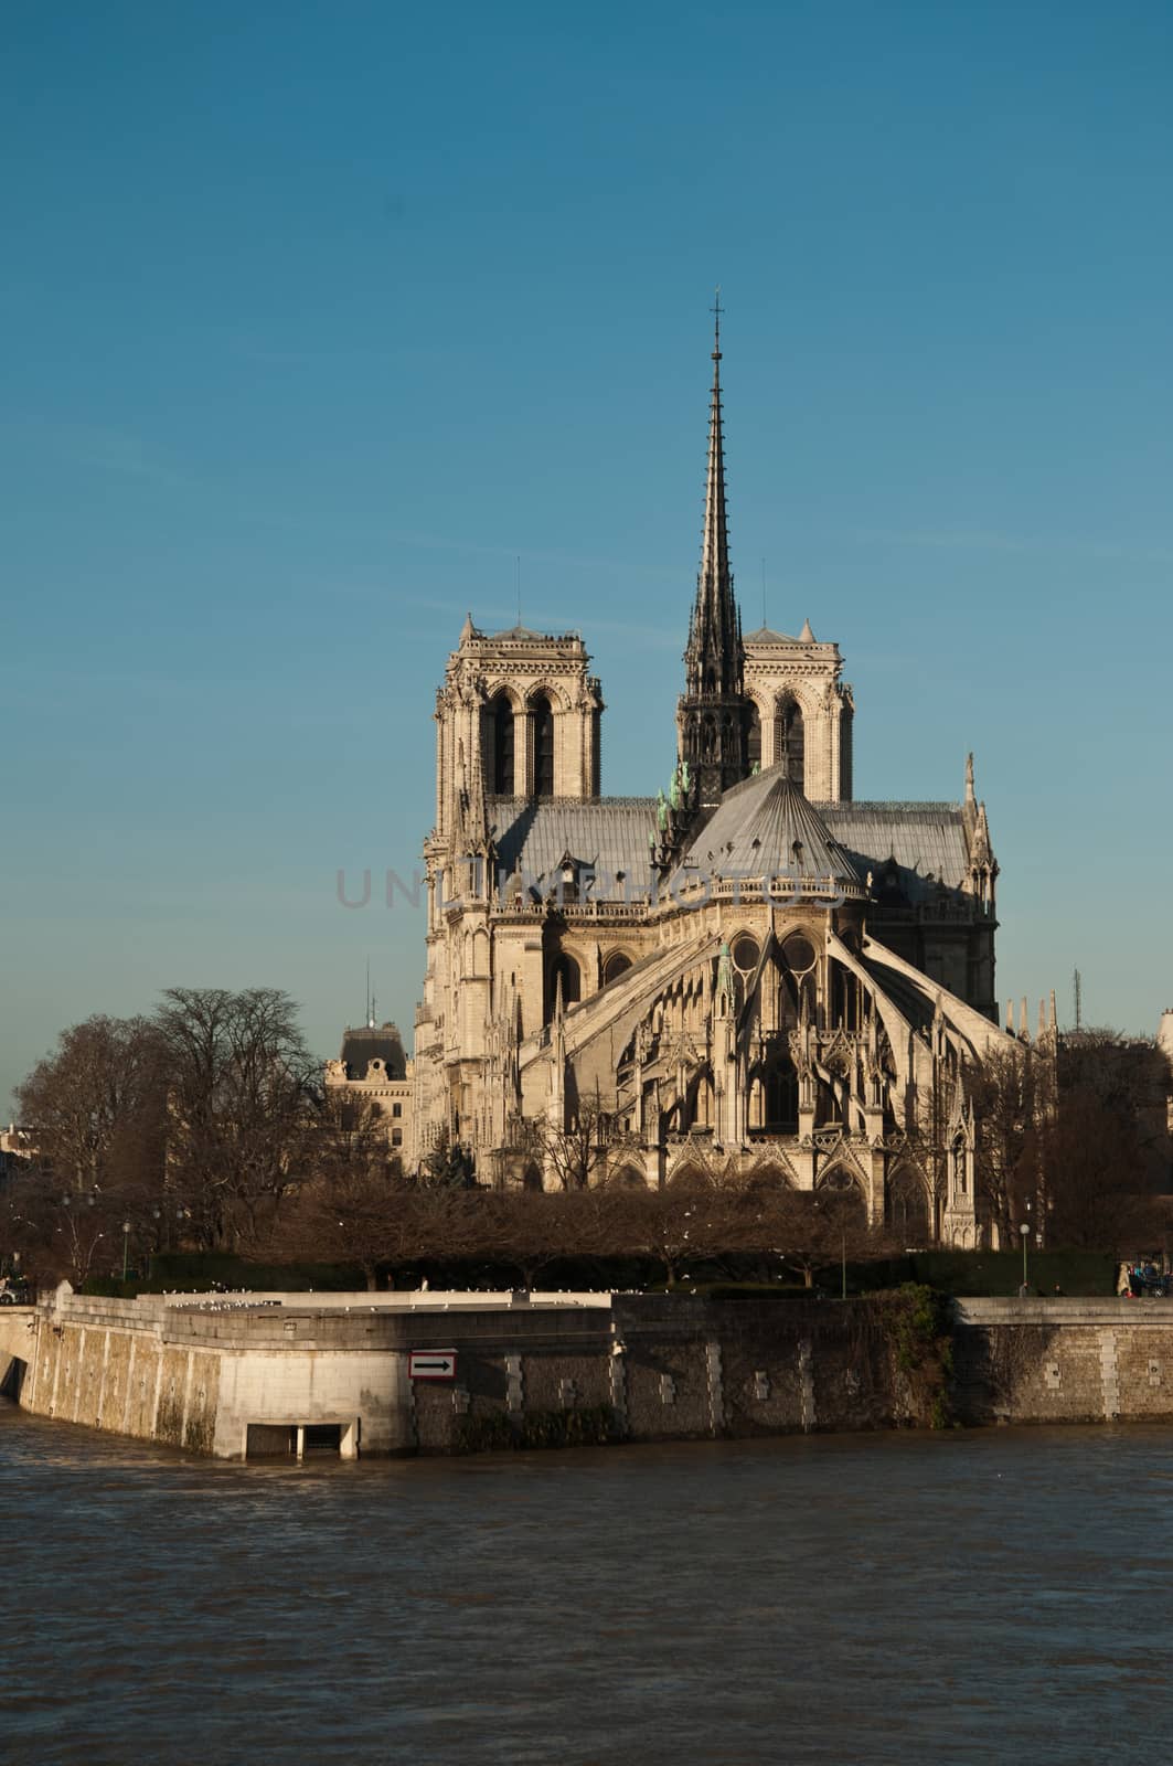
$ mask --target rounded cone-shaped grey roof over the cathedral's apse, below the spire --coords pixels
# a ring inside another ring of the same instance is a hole
[[[859,894],[862,878],[783,766],[733,786],[685,857],[701,874],[760,878],[776,872],[834,878]]]

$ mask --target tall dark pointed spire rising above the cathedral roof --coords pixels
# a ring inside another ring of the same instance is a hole
[[[724,433],[721,422],[721,291],[714,307],[712,403],[708,410],[708,475],[705,532],[696,602],[684,652],[684,694],[677,706],[677,742],[698,781],[700,805],[710,809],[723,791],[749,772],[749,701],[744,692],[745,650],[733,599],[730,526],[724,502]]]

